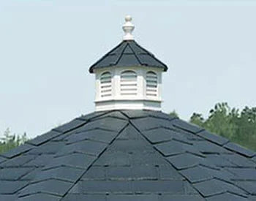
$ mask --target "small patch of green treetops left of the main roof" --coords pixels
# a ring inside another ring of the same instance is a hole
[[[17,147],[26,142],[26,132],[21,136],[18,134],[11,134],[10,129],[6,129],[4,137],[0,139],[0,153],[9,151],[12,148]]]

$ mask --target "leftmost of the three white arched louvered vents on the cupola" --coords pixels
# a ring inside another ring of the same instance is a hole
[[[112,94],[111,74],[110,72],[103,72],[100,76],[100,96],[108,97]]]

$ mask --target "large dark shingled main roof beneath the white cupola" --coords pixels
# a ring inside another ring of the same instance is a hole
[[[0,200],[255,199],[255,152],[160,112],[83,115],[0,156]]]

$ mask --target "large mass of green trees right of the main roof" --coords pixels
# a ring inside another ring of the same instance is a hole
[[[256,107],[240,112],[222,102],[210,110],[208,118],[193,113],[190,122],[256,151]]]

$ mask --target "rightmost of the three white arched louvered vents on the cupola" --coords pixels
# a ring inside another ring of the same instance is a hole
[[[146,95],[157,96],[157,74],[155,72],[147,72],[146,74]]]

